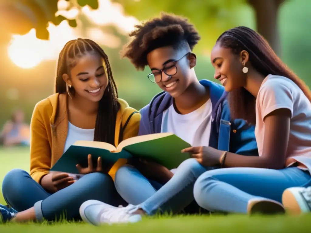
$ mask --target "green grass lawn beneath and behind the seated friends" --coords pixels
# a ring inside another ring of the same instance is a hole
[[[29,171],[29,148],[0,148],[0,185],[2,184],[2,177],[12,168],[21,168]],[[0,203],[5,203],[1,193]],[[308,232],[311,227],[310,222],[311,214],[299,217],[248,217],[245,215],[176,216],[156,217],[156,219],[145,218],[137,224],[101,227],[95,227],[85,223],[68,222],[59,222],[50,225],[45,223],[6,224],[0,225],[0,232]]]

